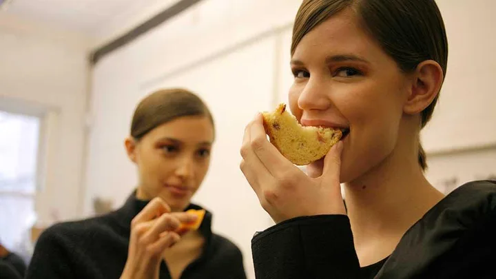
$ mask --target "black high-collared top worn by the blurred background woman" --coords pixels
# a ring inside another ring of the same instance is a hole
[[[110,214],[46,229],[37,241],[25,278],[120,278],[127,259],[131,220],[147,203],[133,193],[123,207]],[[190,205],[187,209],[192,208],[201,207]],[[240,249],[212,233],[211,218],[207,211],[199,229],[205,237],[203,253],[180,278],[245,279]],[[165,261],[161,263],[160,278],[171,278]]]

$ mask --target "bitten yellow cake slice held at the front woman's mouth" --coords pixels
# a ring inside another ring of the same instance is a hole
[[[302,126],[281,103],[274,112],[263,112],[270,142],[295,165],[308,165],[324,157],[342,136],[330,127]]]

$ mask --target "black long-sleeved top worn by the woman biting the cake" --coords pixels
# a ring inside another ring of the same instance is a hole
[[[252,252],[257,279],[496,278],[496,181],[455,189],[368,267],[360,267],[344,215],[279,223],[254,236]]]

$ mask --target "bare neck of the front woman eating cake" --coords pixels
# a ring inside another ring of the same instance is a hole
[[[413,152],[397,146],[378,166],[346,183],[355,247],[375,247],[386,240],[392,251],[406,230],[444,197],[428,183]]]

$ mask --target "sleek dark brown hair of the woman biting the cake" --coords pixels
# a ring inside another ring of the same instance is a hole
[[[293,26],[291,55],[304,35],[346,8],[356,12],[364,30],[403,72],[413,72],[422,61],[433,60],[446,75],[448,39],[434,0],[304,0]],[[422,111],[422,128],[431,119],[438,96]],[[418,162],[426,169],[426,154],[419,145]]]

